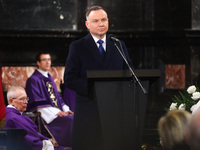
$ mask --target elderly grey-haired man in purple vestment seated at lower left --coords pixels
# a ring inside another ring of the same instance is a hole
[[[22,87],[13,86],[7,93],[8,106],[6,107],[6,125],[4,129],[24,129],[27,135],[24,138],[25,150],[64,150],[53,139],[41,135],[36,124],[22,113],[26,111],[28,97]],[[12,144],[12,143],[10,143]],[[71,148],[68,148],[70,150]]]

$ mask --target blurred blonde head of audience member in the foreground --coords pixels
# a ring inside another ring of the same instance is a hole
[[[158,132],[162,145],[172,150],[177,145],[185,144],[185,134],[191,114],[186,110],[171,110],[158,122]]]

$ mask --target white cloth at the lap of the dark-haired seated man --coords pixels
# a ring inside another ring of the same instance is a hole
[[[40,108],[38,111],[41,113],[42,119],[46,121],[47,124],[51,123],[55,118],[57,118],[57,114],[61,111],[55,107],[47,107]]]

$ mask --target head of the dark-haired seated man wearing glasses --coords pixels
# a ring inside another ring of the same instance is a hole
[[[36,56],[38,69],[48,71],[51,68],[50,53],[41,52]]]

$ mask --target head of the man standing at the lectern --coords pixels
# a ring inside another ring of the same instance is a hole
[[[108,31],[108,16],[101,6],[92,6],[87,9],[85,25],[90,33],[102,39]]]

